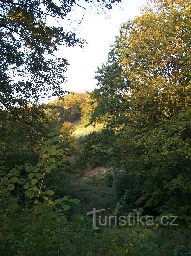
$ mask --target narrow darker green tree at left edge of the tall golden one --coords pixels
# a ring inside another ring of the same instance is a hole
[[[129,81],[127,74],[123,72],[117,47],[113,47],[108,54],[108,62],[96,72],[98,89],[91,93],[96,103],[91,115],[91,121],[105,121],[109,126],[120,127],[124,124],[126,116],[124,113],[129,108],[127,92]]]

